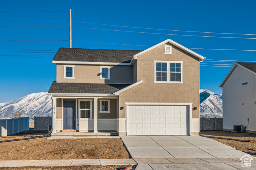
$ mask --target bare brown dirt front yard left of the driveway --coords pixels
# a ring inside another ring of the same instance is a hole
[[[0,141],[47,134],[39,131],[31,133],[33,131],[0,137]],[[120,138],[47,139],[43,137],[38,140],[0,143],[0,148],[0,160],[129,158]]]

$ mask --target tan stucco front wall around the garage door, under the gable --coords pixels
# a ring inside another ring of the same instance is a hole
[[[170,45],[170,44],[164,44]],[[164,45],[152,49],[137,59],[138,81],[143,82],[119,95],[119,107],[135,103],[193,103],[192,118],[199,118],[199,61],[198,58],[172,46],[172,54],[164,54]],[[183,83],[154,83],[154,61],[183,61]],[[125,118],[125,109],[119,111]]]

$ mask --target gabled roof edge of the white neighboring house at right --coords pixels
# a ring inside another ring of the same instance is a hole
[[[233,73],[237,66],[242,67],[243,69],[246,69],[247,71],[256,75],[256,63],[235,63],[224,78],[224,80],[220,83],[219,87],[223,87],[223,85],[228,80],[228,77],[230,77],[230,75]]]

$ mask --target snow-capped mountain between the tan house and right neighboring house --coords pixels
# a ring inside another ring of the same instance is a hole
[[[200,117],[222,117],[222,94],[200,89]]]

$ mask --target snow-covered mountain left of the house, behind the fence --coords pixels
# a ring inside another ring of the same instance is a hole
[[[13,118],[14,113],[22,112],[22,117],[51,116],[52,99],[47,92],[32,93],[18,100],[0,103],[0,117]]]

